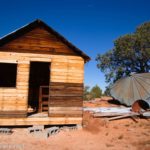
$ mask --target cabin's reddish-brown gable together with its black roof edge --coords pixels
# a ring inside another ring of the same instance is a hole
[[[85,61],[90,60],[90,57],[40,20],[36,20],[16,32],[3,37],[0,40],[0,47],[8,50],[18,48],[19,50],[43,50],[43,52],[50,49],[58,53],[62,51],[65,55],[68,53],[69,55],[72,53],[73,55],[79,55]]]

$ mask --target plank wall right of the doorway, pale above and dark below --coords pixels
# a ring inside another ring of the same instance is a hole
[[[83,80],[83,59],[52,61],[49,116],[82,117]]]

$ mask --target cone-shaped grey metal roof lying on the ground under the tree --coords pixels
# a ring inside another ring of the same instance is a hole
[[[127,106],[137,100],[147,102],[150,98],[150,73],[135,73],[119,79],[110,88],[110,94]]]

